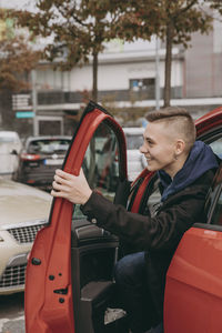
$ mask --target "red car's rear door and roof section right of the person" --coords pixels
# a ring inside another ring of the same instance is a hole
[[[222,158],[222,108],[196,121],[198,137]],[[164,333],[222,331],[222,169],[205,205],[208,223],[183,235],[167,274]]]

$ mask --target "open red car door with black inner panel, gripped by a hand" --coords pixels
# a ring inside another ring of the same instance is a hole
[[[93,102],[83,113],[62,167],[75,175],[80,168],[90,186],[111,201],[117,200],[117,189],[127,189],[124,134]],[[97,319],[112,293],[117,246],[117,238],[89,223],[80,206],[54,199],[49,225],[38,233],[27,266],[26,332],[104,332],[103,321]],[[97,327],[98,322],[102,323]]]

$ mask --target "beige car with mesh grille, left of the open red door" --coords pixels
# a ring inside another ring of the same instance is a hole
[[[27,254],[50,205],[48,193],[0,178],[0,294],[24,290]]]

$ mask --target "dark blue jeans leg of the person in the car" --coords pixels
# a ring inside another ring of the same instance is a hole
[[[158,324],[148,287],[144,252],[123,256],[115,265],[114,279],[121,306],[133,333],[143,333]],[[161,331],[160,331],[161,333]]]

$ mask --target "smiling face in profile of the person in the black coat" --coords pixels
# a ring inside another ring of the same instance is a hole
[[[173,174],[175,161],[176,140],[173,137],[172,128],[164,122],[148,123],[143,144],[140,152],[144,154],[149,171],[164,170],[170,175]]]

